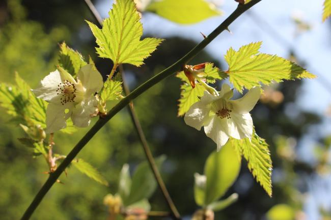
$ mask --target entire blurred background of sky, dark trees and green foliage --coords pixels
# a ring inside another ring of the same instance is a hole
[[[112,2],[94,3],[106,17]],[[131,89],[173,64],[202,40],[199,32],[209,34],[236,7],[232,0],[213,3],[224,15],[194,25],[143,14],[145,36],[166,41],[143,67],[124,65]],[[238,49],[263,41],[262,52],[296,60],[318,76],[315,80],[287,81],[266,88],[252,116],[257,133],[270,144],[273,197],[267,196],[243,163],[238,179],[226,195],[238,193],[239,200],[217,212],[216,219],[267,219],[266,213],[277,204],[286,204],[293,211],[291,219],[331,219],[331,22],[322,23],[322,4],[322,0],[264,0],[231,25],[232,34],[223,33],[192,60],[192,64],[211,61],[226,69],[223,56],[229,47]],[[1,1],[0,82],[14,83],[17,71],[35,87],[54,70],[58,44],[63,41],[85,57],[91,55],[103,76],[108,74],[112,62],[97,57],[94,37],[85,19],[96,23],[82,0]],[[167,155],[162,176],[180,213],[189,219],[197,209],[194,173],[203,172],[215,144],[177,117],[180,83],[178,78],[170,77],[134,104],[153,154]],[[57,134],[55,150],[67,154],[86,131]],[[0,109],[0,216],[4,220],[18,219],[47,178],[43,173],[48,169],[44,159],[34,159],[31,149],[17,141],[23,136],[19,126]],[[68,176],[61,176],[64,185],[51,188],[32,219],[106,219],[102,200],[106,194],[116,192],[122,165],[129,163],[134,168],[145,160],[126,109],[87,144],[79,158],[97,167],[109,181],[109,187],[70,168]],[[150,202],[153,210],[167,210],[158,190]],[[279,220],[282,219],[289,220]]]

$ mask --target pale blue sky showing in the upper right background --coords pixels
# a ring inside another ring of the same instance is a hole
[[[206,35],[211,33],[237,6],[233,0],[222,2],[220,9],[224,11],[223,16],[213,17],[194,25],[179,25],[157,15],[146,13],[142,19],[144,33],[160,38],[180,36],[200,42],[202,40],[200,32]],[[108,0],[99,1],[97,9],[102,17],[107,16],[111,5]],[[316,80],[304,80],[300,97],[296,103],[289,106],[289,111],[304,109],[325,115],[331,104],[331,25],[329,20],[322,23],[322,10],[323,0],[262,0],[250,10],[251,14],[262,18],[262,23],[268,23],[287,42],[286,44],[290,44],[299,55],[298,58],[306,61],[308,71],[319,77]],[[291,16],[298,12],[302,14],[302,20],[312,25],[312,30],[295,36],[295,24]],[[288,57],[288,47],[284,47],[280,40],[275,40],[268,32],[265,32],[266,28],[262,30],[252,19],[252,15],[242,15],[229,28],[232,35],[224,32],[206,47],[206,50],[223,64],[224,54],[229,47],[238,49],[242,45],[256,41],[263,41],[261,52]],[[329,90],[325,88],[328,85]],[[330,117],[324,116],[323,124],[312,128],[311,135],[305,137],[304,142],[301,141],[301,145],[306,145],[299,151],[302,158],[307,161],[313,160],[311,151],[314,141],[318,135],[331,134],[330,122]],[[319,180],[317,181],[316,178]],[[305,205],[307,219],[310,220],[318,219],[318,203],[328,207],[331,205],[330,199],[326,198],[326,195],[331,195],[331,192],[313,190],[321,184],[321,181],[331,186],[330,176],[316,178],[310,181],[311,195],[307,197]]]

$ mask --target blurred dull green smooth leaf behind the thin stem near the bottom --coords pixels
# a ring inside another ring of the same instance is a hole
[[[164,155],[155,159],[158,168],[161,167],[164,160],[166,160]],[[142,199],[148,199],[156,190],[156,186],[157,184],[149,164],[146,161],[141,163],[134,171],[130,195],[124,205],[128,206]]]

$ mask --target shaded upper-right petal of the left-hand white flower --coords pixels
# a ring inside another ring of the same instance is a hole
[[[77,79],[86,88],[86,95],[94,95],[101,90],[103,86],[102,76],[92,64],[86,65],[78,71]]]

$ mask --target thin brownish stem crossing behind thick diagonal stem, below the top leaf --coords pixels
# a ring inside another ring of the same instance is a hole
[[[124,87],[124,92],[125,92],[125,95],[128,96],[130,94],[130,90],[129,90],[129,87],[127,86],[126,84],[126,80],[125,80],[125,76],[124,76],[124,70],[123,70],[123,66],[120,65],[119,66],[120,68],[120,71],[121,71],[121,74],[122,74],[122,79],[123,79],[123,87]],[[128,109],[129,109],[129,112],[130,112],[130,116],[131,116],[131,119],[132,119],[132,122],[133,122],[133,125],[135,127],[135,130],[137,131],[137,134],[140,138],[140,141],[142,143],[142,146],[144,148],[144,152],[145,152],[145,155],[146,155],[146,158],[147,158],[147,161],[153,171],[153,175],[157,181],[157,184],[163,194],[163,197],[164,199],[167,201],[168,203],[168,206],[172,212],[172,215],[175,219],[180,219],[180,214],[167,190],[167,187],[166,187],[166,184],[164,184],[163,182],[163,179],[161,177],[161,174],[160,172],[158,171],[157,169],[157,166],[156,166],[156,163],[154,161],[154,158],[153,158],[153,154],[148,146],[148,142],[146,140],[146,137],[145,137],[145,134],[144,134],[144,131],[143,131],[143,128],[142,128],[142,125],[135,113],[135,110],[134,110],[134,105],[133,105],[133,102],[131,101],[130,104],[128,105]]]

